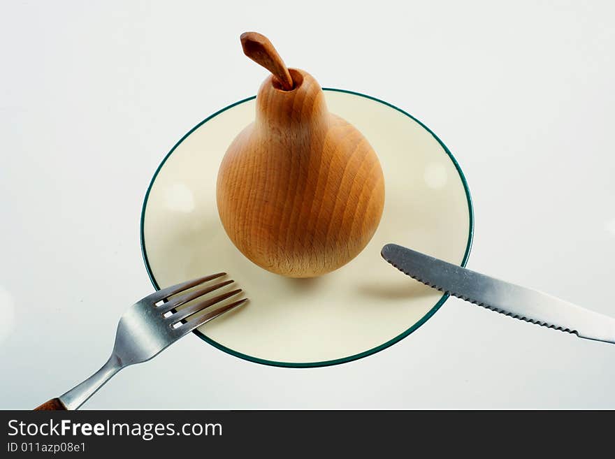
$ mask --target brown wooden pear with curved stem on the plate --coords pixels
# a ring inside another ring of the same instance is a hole
[[[256,119],[226,150],[217,206],[233,244],[266,270],[314,277],[368,244],[384,207],[384,177],[363,135],[331,114],[318,82],[287,68],[268,39],[241,36],[245,54],[273,75]]]

